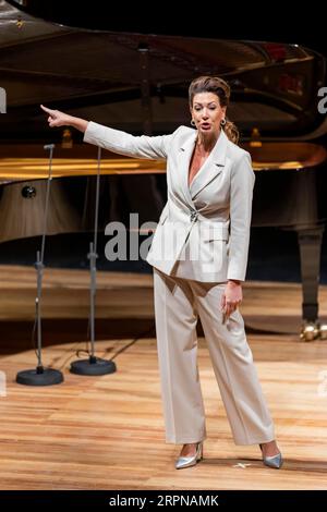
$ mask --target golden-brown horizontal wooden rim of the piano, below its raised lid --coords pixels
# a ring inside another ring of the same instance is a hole
[[[312,143],[263,143],[252,147],[242,144],[252,156],[255,171],[301,170],[314,168],[327,161],[327,150]],[[40,145],[0,147],[0,185],[11,182],[41,180],[48,176],[49,159]],[[166,172],[166,162],[158,160],[119,157],[102,151],[101,174],[159,174]],[[96,153],[93,146],[76,144],[71,149],[56,148],[52,176],[89,176],[97,174]]]

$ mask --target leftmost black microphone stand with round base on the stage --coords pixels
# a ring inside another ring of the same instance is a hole
[[[46,150],[49,150],[49,173],[47,181],[46,191],[46,205],[45,205],[45,217],[44,217],[44,229],[41,239],[41,249],[36,252],[35,269],[37,271],[37,296],[35,298],[35,325],[37,326],[37,367],[35,369],[26,369],[19,371],[16,375],[16,382],[25,386],[52,386],[63,381],[63,375],[58,369],[45,368],[41,358],[41,291],[43,291],[43,276],[44,276],[44,256],[45,256],[45,244],[46,244],[46,232],[47,232],[47,219],[49,209],[50,198],[50,185],[51,185],[51,168],[52,168],[52,156],[55,144],[48,144],[44,146]],[[33,333],[34,333],[33,329]]]

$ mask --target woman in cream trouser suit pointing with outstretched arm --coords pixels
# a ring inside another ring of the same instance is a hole
[[[255,178],[249,153],[235,144],[238,131],[226,119],[229,97],[223,80],[195,78],[189,89],[193,127],[154,137],[41,106],[50,126],[72,125],[85,133],[87,143],[120,155],[167,160],[168,202],[147,261],[154,267],[166,441],[183,444],[177,468],[202,460],[206,438],[196,359],[198,317],[234,442],[259,444],[266,465],[282,464],[238,309]]]

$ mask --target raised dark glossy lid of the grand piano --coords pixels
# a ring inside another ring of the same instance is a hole
[[[101,32],[56,25],[0,0],[0,76],[7,141],[60,137],[49,131],[43,102],[74,115],[144,132],[142,53],[148,54],[153,133],[189,124],[187,86],[217,74],[232,87],[229,118],[250,137],[326,132],[317,110],[325,59],[301,45]]]

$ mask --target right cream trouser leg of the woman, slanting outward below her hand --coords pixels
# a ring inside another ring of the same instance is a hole
[[[244,321],[237,309],[223,324],[220,312],[226,283],[190,281],[196,308],[237,444],[275,439],[274,425],[258,381]]]

